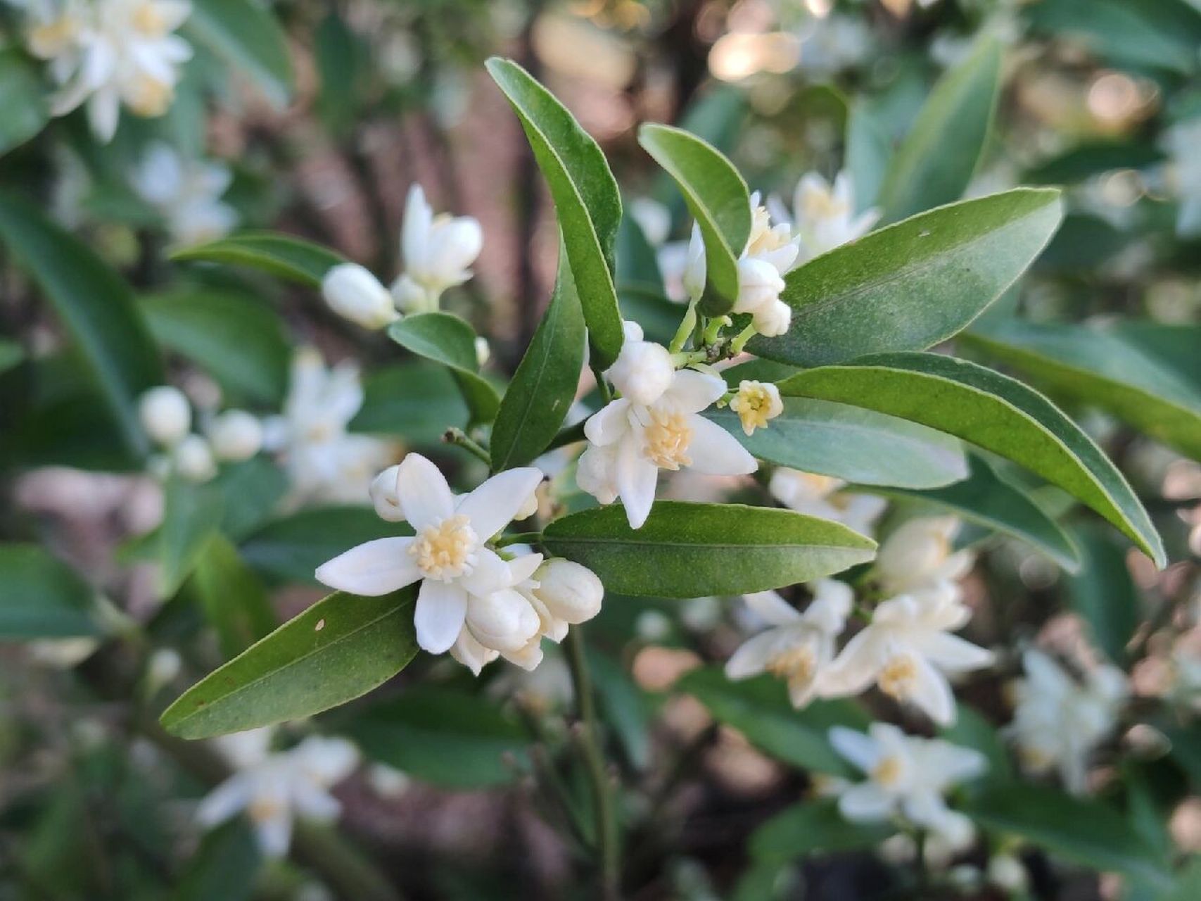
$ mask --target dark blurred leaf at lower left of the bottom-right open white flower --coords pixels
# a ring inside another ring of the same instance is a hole
[[[751,857],[785,861],[809,854],[872,848],[896,830],[884,823],[852,823],[829,799],[801,801],[785,807],[751,834]]]

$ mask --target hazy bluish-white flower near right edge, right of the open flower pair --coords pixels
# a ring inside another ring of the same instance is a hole
[[[1088,787],[1089,757],[1118,723],[1129,692],[1127,678],[1101,666],[1077,682],[1033,649],[1022,656],[1022,664],[1026,678],[1014,684],[1017,706],[1008,734],[1027,770],[1057,768],[1068,790],[1080,794]]]

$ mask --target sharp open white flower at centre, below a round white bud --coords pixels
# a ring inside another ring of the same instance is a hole
[[[600,503],[621,497],[632,529],[650,515],[659,470],[691,466],[711,476],[742,476],[755,459],[716,423],[699,416],[725,393],[719,376],[680,370],[653,402],[611,401],[584,424],[588,447],[575,479]]]

